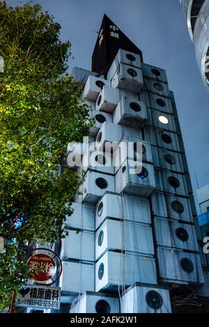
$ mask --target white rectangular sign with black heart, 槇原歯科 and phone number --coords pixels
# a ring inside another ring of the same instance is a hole
[[[59,310],[60,296],[60,287],[25,285],[15,298],[15,306]]]

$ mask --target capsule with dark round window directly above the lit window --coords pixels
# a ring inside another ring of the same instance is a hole
[[[141,97],[140,94],[141,98],[143,99],[143,96]],[[168,97],[160,97],[160,95],[156,95],[155,93],[149,93],[147,106],[151,109],[173,114],[171,99]]]

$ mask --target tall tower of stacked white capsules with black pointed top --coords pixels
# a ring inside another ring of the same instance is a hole
[[[73,77],[94,123],[61,245],[62,311],[206,311],[208,266],[165,70],[104,15],[92,71]]]

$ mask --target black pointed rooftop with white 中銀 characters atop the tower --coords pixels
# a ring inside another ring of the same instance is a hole
[[[114,61],[118,49],[139,54],[142,58],[142,52],[127,36],[118,29],[114,22],[104,15],[102,25],[98,34],[98,40],[95,44],[92,56],[92,70],[98,74],[104,74],[106,77],[111,63]]]

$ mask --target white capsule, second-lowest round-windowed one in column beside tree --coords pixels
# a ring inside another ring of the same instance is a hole
[[[86,152],[82,159],[82,169],[86,171],[88,168],[98,173],[114,175],[114,162],[111,153],[98,150]]]

